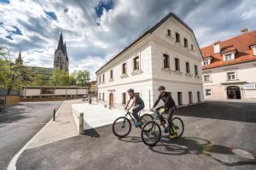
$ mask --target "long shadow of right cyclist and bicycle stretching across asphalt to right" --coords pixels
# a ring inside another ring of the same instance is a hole
[[[162,136],[160,143],[154,147],[149,147],[149,149],[164,155],[204,155],[228,167],[256,165],[256,156],[253,155],[254,159],[238,156],[232,151],[232,148],[224,145],[212,144],[207,139],[182,137],[180,139],[170,140],[168,136]],[[223,156],[225,158],[223,158]],[[233,156],[233,158],[239,159],[239,161],[228,162],[226,156]]]

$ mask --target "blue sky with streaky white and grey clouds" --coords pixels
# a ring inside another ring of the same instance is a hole
[[[62,32],[69,71],[95,72],[149,26],[172,12],[204,47],[256,30],[254,0],[0,0],[0,45],[26,65],[53,67]]]

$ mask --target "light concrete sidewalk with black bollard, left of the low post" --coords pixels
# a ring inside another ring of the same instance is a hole
[[[55,121],[51,120],[40,133],[32,139],[27,148],[42,144],[49,144],[61,139],[67,139],[79,135],[72,115],[72,104],[82,103],[81,99],[66,100],[56,113]]]

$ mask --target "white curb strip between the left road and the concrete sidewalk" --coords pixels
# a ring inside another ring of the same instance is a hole
[[[62,108],[64,102],[65,102],[65,101],[62,102],[61,107],[60,107],[60,108],[58,109],[58,111],[56,112],[56,116],[57,116],[57,114],[59,113],[59,111],[61,111],[61,108]],[[51,122],[52,120],[53,120],[53,119],[50,119],[49,122]],[[9,162],[9,165],[8,165],[8,167],[7,167],[7,170],[16,170],[16,163],[17,163],[17,161],[18,161],[19,156],[23,153],[24,150],[26,150],[26,147],[27,147],[30,143],[32,143],[32,140],[35,139],[35,138],[38,136],[38,134],[41,133],[41,132],[44,130],[45,127],[47,127],[47,125],[49,124],[49,122],[47,122],[47,123],[44,125],[44,127],[41,128],[41,130],[39,130],[39,132],[36,133],[35,136],[33,136],[32,139],[30,139],[30,140],[21,148],[21,150],[20,150],[18,153],[16,153],[16,155],[15,155],[15,156],[12,158],[12,160]]]

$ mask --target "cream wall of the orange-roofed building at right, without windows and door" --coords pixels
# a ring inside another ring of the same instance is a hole
[[[212,90],[212,95],[207,96],[206,99],[228,99],[226,88],[229,86],[237,86],[241,91],[241,99],[256,99],[256,89],[244,88],[247,84],[256,84],[256,62],[247,62],[243,64],[223,66],[219,68],[207,69],[203,71],[202,78],[209,75],[210,82],[204,82],[204,91],[206,89]],[[228,80],[227,72],[235,72],[236,80]]]

